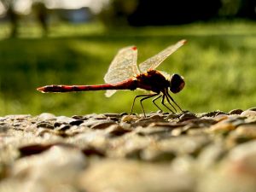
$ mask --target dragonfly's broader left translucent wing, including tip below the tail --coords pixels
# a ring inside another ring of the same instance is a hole
[[[111,62],[104,80],[108,84],[130,79],[139,73],[137,67],[137,47],[130,46],[120,49]],[[107,90],[106,96],[112,96],[116,90]]]

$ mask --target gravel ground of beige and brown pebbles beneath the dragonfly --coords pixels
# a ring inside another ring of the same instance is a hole
[[[256,108],[0,117],[0,191],[255,192]]]

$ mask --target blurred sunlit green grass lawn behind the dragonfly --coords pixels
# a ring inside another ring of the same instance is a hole
[[[135,44],[138,62],[186,38],[188,44],[164,61],[159,70],[186,80],[172,95],[193,112],[230,111],[255,106],[256,23],[236,21],[184,26],[107,29],[99,23],[50,28],[41,38],[38,26],[20,26],[20,38],[7,38],[0,26],[0,115],[43,112],[57,115],[129,112],[140,91],[42,94],[45,84],[102,84],[118,49]],[[157,109],[145,101],[147,112]],[[141,113],[137,102],[135,112]]]

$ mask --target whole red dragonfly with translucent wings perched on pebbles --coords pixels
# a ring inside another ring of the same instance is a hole
[[[180,40],[176,44],[168,46],[166,49],[160,51],[160,53],[148,58],[137,65],[137,47],[129,46],[123,49],[119,49],[119,52],[113,58],[108,72],[105,74],[104,80],[106,84],[94,84],[94,85],[46,85],[39,87],[37,90],[46,92],[73,92],[73,91],[88,91],[88,90],[107,90],[105,96],[113,96],[117,90],[148,90],[148,94],[135,96],[131,105],[131,113],[133,111],[134,104],[137,98],[140,98],[140,105],[143,109],[144,117],[146,117],[145,110],[143,108],[143,101],[149,98],[153,98],[152,102],[154,106],[162,112],[163,110],[156,103],[161,98],[161,104],[170,110],[172,113],[177,113],[177,108],[183,112],[183,109],[179,107],[177,102],[174,101],[169,91],[176,94],[183,90],[185,81],[183,76],[174,73],[169,75],[164,72],[155,70],[159,67],[162,61],[166,60],[169,55],[172,55],[177,49],[179,49],[186,40]],[[170,106],[166,105],[166,102]]]

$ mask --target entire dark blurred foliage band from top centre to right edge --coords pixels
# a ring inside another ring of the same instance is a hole
[[[255,20],[255,9],[255,0],[110,0],[100,18],[106,26],[161,26],[198,20]]]

